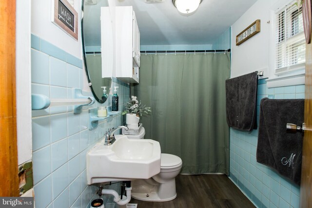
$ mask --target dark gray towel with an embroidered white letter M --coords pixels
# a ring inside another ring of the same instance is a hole
[[[287,133],[286,124],[302,125],[304,99],[269,99],[260,103],[257,162],[300,185],[302,133]]]

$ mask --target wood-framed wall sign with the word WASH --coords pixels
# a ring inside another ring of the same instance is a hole
[[[52,0],[52,22],[78,40],[78,13],[67,0]]]

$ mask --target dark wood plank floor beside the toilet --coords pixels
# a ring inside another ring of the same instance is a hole
[[[226,175],[178,175],[176,194],[169,202],[130,203],[137,208],[255,208]]]

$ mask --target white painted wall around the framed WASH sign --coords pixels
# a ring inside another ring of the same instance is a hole
[[[78,13],[78,41],[71,38],[58,26],[52,23],[52,2],[54,2],[54,0],[31,0],[31,33],[52,43],[67,53],[81,58],[81,0],[74,0],[74,8]]]

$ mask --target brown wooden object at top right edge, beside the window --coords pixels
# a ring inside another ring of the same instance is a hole
[[[304,28],[304,35],[306,37],[307,44],[311,43],[311,0],[303,0],[302,4],[302,16],[303,16],[303,28]]]

